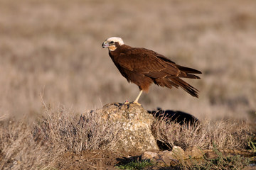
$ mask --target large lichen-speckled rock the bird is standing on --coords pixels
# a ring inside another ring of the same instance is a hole
[[[121,126],[117,149],[127,154],[159,149],[151,133],[154,117],[142,106],[135,103],[110,103],[103,106],[99,113],[105,120]]]

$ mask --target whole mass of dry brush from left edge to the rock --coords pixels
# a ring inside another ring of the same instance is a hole
[[[95,112],[80,117],[63,107],[46,108],[33,123],[26,120],[0,122],[0,169],[53,168],[65,152],[117,149],[119,125],[110,125]]]

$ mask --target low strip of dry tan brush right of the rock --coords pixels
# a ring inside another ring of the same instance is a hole
[[[179,146],[183,149],[246,149],[253,136],[248,123],[232,120],[204,120],[195,125],[180,125],[175,122],[166,123],[161,119],[154,123],[152,131],[156,140],[169,147]]]

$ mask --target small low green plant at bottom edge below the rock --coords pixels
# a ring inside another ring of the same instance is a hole
[[[155,165],[154,162],[143,161],[143,162],[129,162],[128,164],[119,165],[116,167],[117,169],[134,170],[134,169],[144,169],[146,166],[153,166],[153,165]]]

